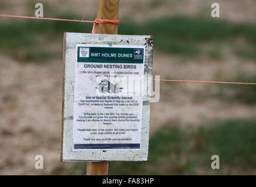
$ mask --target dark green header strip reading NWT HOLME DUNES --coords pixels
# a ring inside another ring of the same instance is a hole
[[[143,48],[78,47],[78,63],[143,64]]]

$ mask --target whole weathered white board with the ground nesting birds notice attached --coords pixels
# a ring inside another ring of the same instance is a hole
[[[143,161],[151,36],[65,33],[62,161]]]

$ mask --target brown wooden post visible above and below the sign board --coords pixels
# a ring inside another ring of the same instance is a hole
[[[117,20],[119,0],[98,0],[97,19]],[[117,34],[118,25],[113,23],[98,24],[97,34]],[[87,162],[86,175],[107,175],[108,162]]]

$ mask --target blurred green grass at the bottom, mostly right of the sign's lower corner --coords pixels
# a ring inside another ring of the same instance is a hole
[[[154,125],[154,124],[151,124]],[[256,174],[256,119],[210,122],[199,127],[167,124],[150,136],[149,160],[110,162],[110,175],[230,175]],[[211,169],[211,156],[220,169]],[[86,164],[53,174],[85,174]]]

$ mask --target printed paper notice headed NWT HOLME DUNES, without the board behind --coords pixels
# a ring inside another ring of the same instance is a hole
[[[76,50],[73,150],[140,149],[144,46]]]

